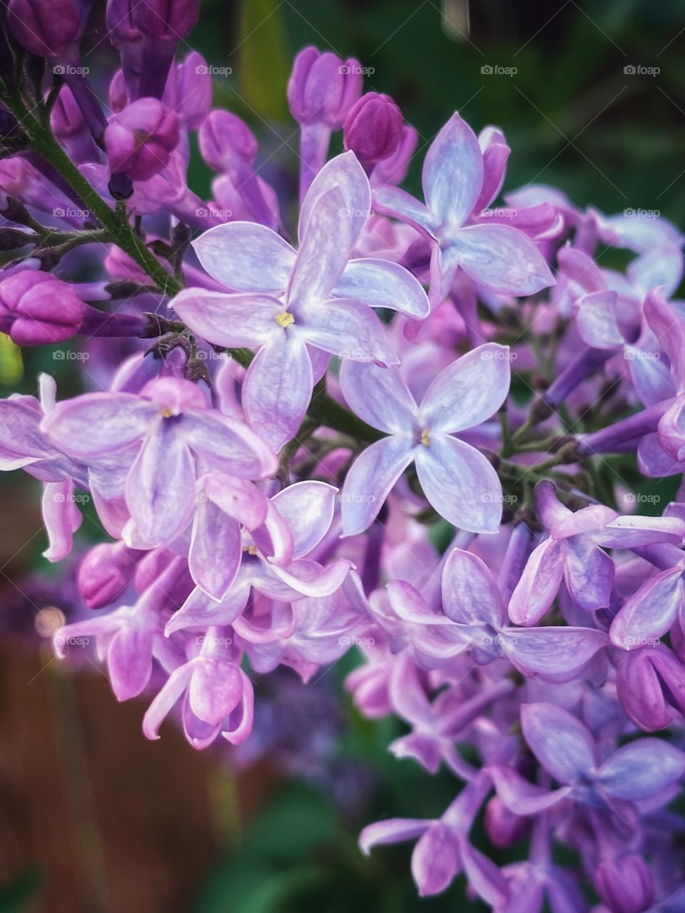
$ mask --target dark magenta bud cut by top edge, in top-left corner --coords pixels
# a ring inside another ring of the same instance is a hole
[[[31,54],[57,58],[79,42],[89,12],[79,0],[10,0],[7,25]]]

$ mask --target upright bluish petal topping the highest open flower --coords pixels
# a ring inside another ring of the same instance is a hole
[[[441,222],[466,222],[483,185],[483,155],[476,134],[456,112],[430,144],[422,183],[427,205]]]

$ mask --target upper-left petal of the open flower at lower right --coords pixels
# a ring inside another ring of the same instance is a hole
[[[579,719],[554,704],[523,704],[523,736],[553,778],[571,786],[595,769],[595,742]]]

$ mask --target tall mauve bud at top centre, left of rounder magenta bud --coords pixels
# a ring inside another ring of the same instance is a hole
[[[359,61],[350,58],[343,63],[332,51],[321,54],[316,47],[304,47],[295,58],[288,104],[299,124],[324,123],[331,130],[340,130],[361,92]]]

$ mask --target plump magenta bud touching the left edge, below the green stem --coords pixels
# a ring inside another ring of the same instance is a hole
[[[24,270],[0,282],[0,331],[17,345],[51,345],[79,331],[85,305],[67,282]]]

